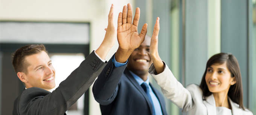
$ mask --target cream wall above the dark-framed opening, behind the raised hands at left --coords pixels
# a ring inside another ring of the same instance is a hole
[[[0,21],[38,22],[88,22],[90,23],[90,51],[96,50],[105,36],[108,13],[115,5],[114,24],[117,27],[118,13],[123,6],[131,3],[135,13],[134,0],[1,0]],[[133,13],[133,14],[134,14]],[[107,55],[107,60],[116,52],[118,43]]]

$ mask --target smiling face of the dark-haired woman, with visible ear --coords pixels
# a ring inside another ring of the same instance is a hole
[[[207,68],[205,81],[212,93],[229,91],[229,87],[236,83],[235,77],[231,77],[226,62],[223,64],[214,63]]]

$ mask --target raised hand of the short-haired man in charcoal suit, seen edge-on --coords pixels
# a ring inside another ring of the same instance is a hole
[[[101,59],[105,59],[109,50],[114,46],[117,37],[116,27],[114,26],[114,4],[111,5],[108,14],[108,27],[105,28],[106,34],[101,46],[95,51]]]

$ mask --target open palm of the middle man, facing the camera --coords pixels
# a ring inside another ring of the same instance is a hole
[[[127,9],[128,8],[128,9]],[[138,33],[138,24],[140,19],[140,9],[136,8],[133,19],[133,11],[130,3],[123,6],[123,12],[119,13],[117,19],[117,40],[119,47],[116,53],[117,62],[125,62],[134,49],[138,48],[145,40],[148,24],[144,24],[140,34]]]

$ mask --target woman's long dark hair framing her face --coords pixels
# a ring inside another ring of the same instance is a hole
[[[222,64],[225,62],[227,63],[227,68],[231,73],[231,77],[235,77],[235,80],[236,80],[236,83],[230,86],[228,96],[233,102],[237,103],[240,108],[244,109],[241,72],[240,72],[238,60],[232,54],[218,53],[216,55],[213,55],[207,61],[206,69],[204,71],[204,75],[200,84],[200,88],[203,90],[203,96],[207,97],[212,94],[212,92],[209,91],[205,81],[207,68],[209,68],[211,65],[215,63]]]

